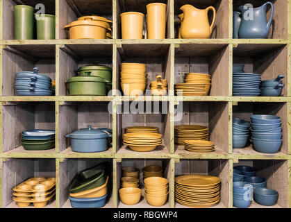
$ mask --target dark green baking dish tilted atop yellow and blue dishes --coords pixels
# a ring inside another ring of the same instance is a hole
[[[105,184],[107,176],[109,176],[108,162],[102,162],[90,169],[85,169],[77,173],[72,180],[69,192],[76,194],[88,189],[101,187]]]

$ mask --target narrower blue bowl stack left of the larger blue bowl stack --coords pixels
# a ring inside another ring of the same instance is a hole
[[[249,139],[248,121],[233,117],[233,148],[244,148]]]

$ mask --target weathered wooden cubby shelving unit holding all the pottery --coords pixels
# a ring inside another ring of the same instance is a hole
[[[120,13],[146,11],[138,0],[47,0],[47,13],[56,15],[56,40],[13,40],[13,6],[16,0],[0,1],[0,207],[17,207],[11,188],[31,176],[56,176],[56,200],[47,207],[71,207],[68,185],[74,175],[100,161],[113,167],[112,195],[105,207],[126,207],[119,201],[122,166],[142,169],[162,164],[169,180],[169,199],[164,207],[179,208],[174,201],[174,178],[186,173],[204,173],[222,179],[222,200],[213,207],[233,207],[232,178],[235,164],[249,164],[267,178],[267,187],[279,191],[275,207],[291,207],[291,3],[272,1],[274,23],[264,40],[232,39],[232,13],[244,3],[260,6],[265,0],[161,0],[167,3],[165,40],[120,39]],[[39,1],[26,1],[35,6]],[[174,20],[179,8],[190,3],[199,8],[215,6],[215,31],[207,40],[176,37]],[[81,15],[97,14],[113,20],[113,40],[68,40],[63,27]],[[269,15],[269,12],[267,12]],[[189,71],[212,75],[210,96],[68,96],[65,81],[79,66],[97,61],[113,67],[113,89],[119,86],[119,64],[124,61],[147,64],[148,82],[161,74],[174,89]],[[281,97],[232,96],[232,65],[243,62],[246,71],[274,78],[285,74]],[[56,80],[56,96],[17,96],[15,73],[39,67],[40,73]],[[122,114],[119,107],[131,101],[165,103],[168,114]],[[174,121],[174,110],[182,105],[183,116]],[[112,108],[109,113],[107,108]],[[253,113],[277,114],[282,119],[283,146],[279,153],[258,153],[251,146],[233,151],[232,117],[248,118]],[[74,153],[67,133],[93,126],[113,129],[112,147],[102,153]],[[174,144],[174,126],[197,123],[210,128],[213,153],[190,153]],[[150,153],[137,153],[122,144],[126,126],[158,126],[163,145]],[[28,128],[55,128],[56,148],[25,151],[20,133]],[[142,178],[142,175],[141,175]],[[151,207],[143,199],[135,207]],[[263,207],[253,203],[251,207]]]

